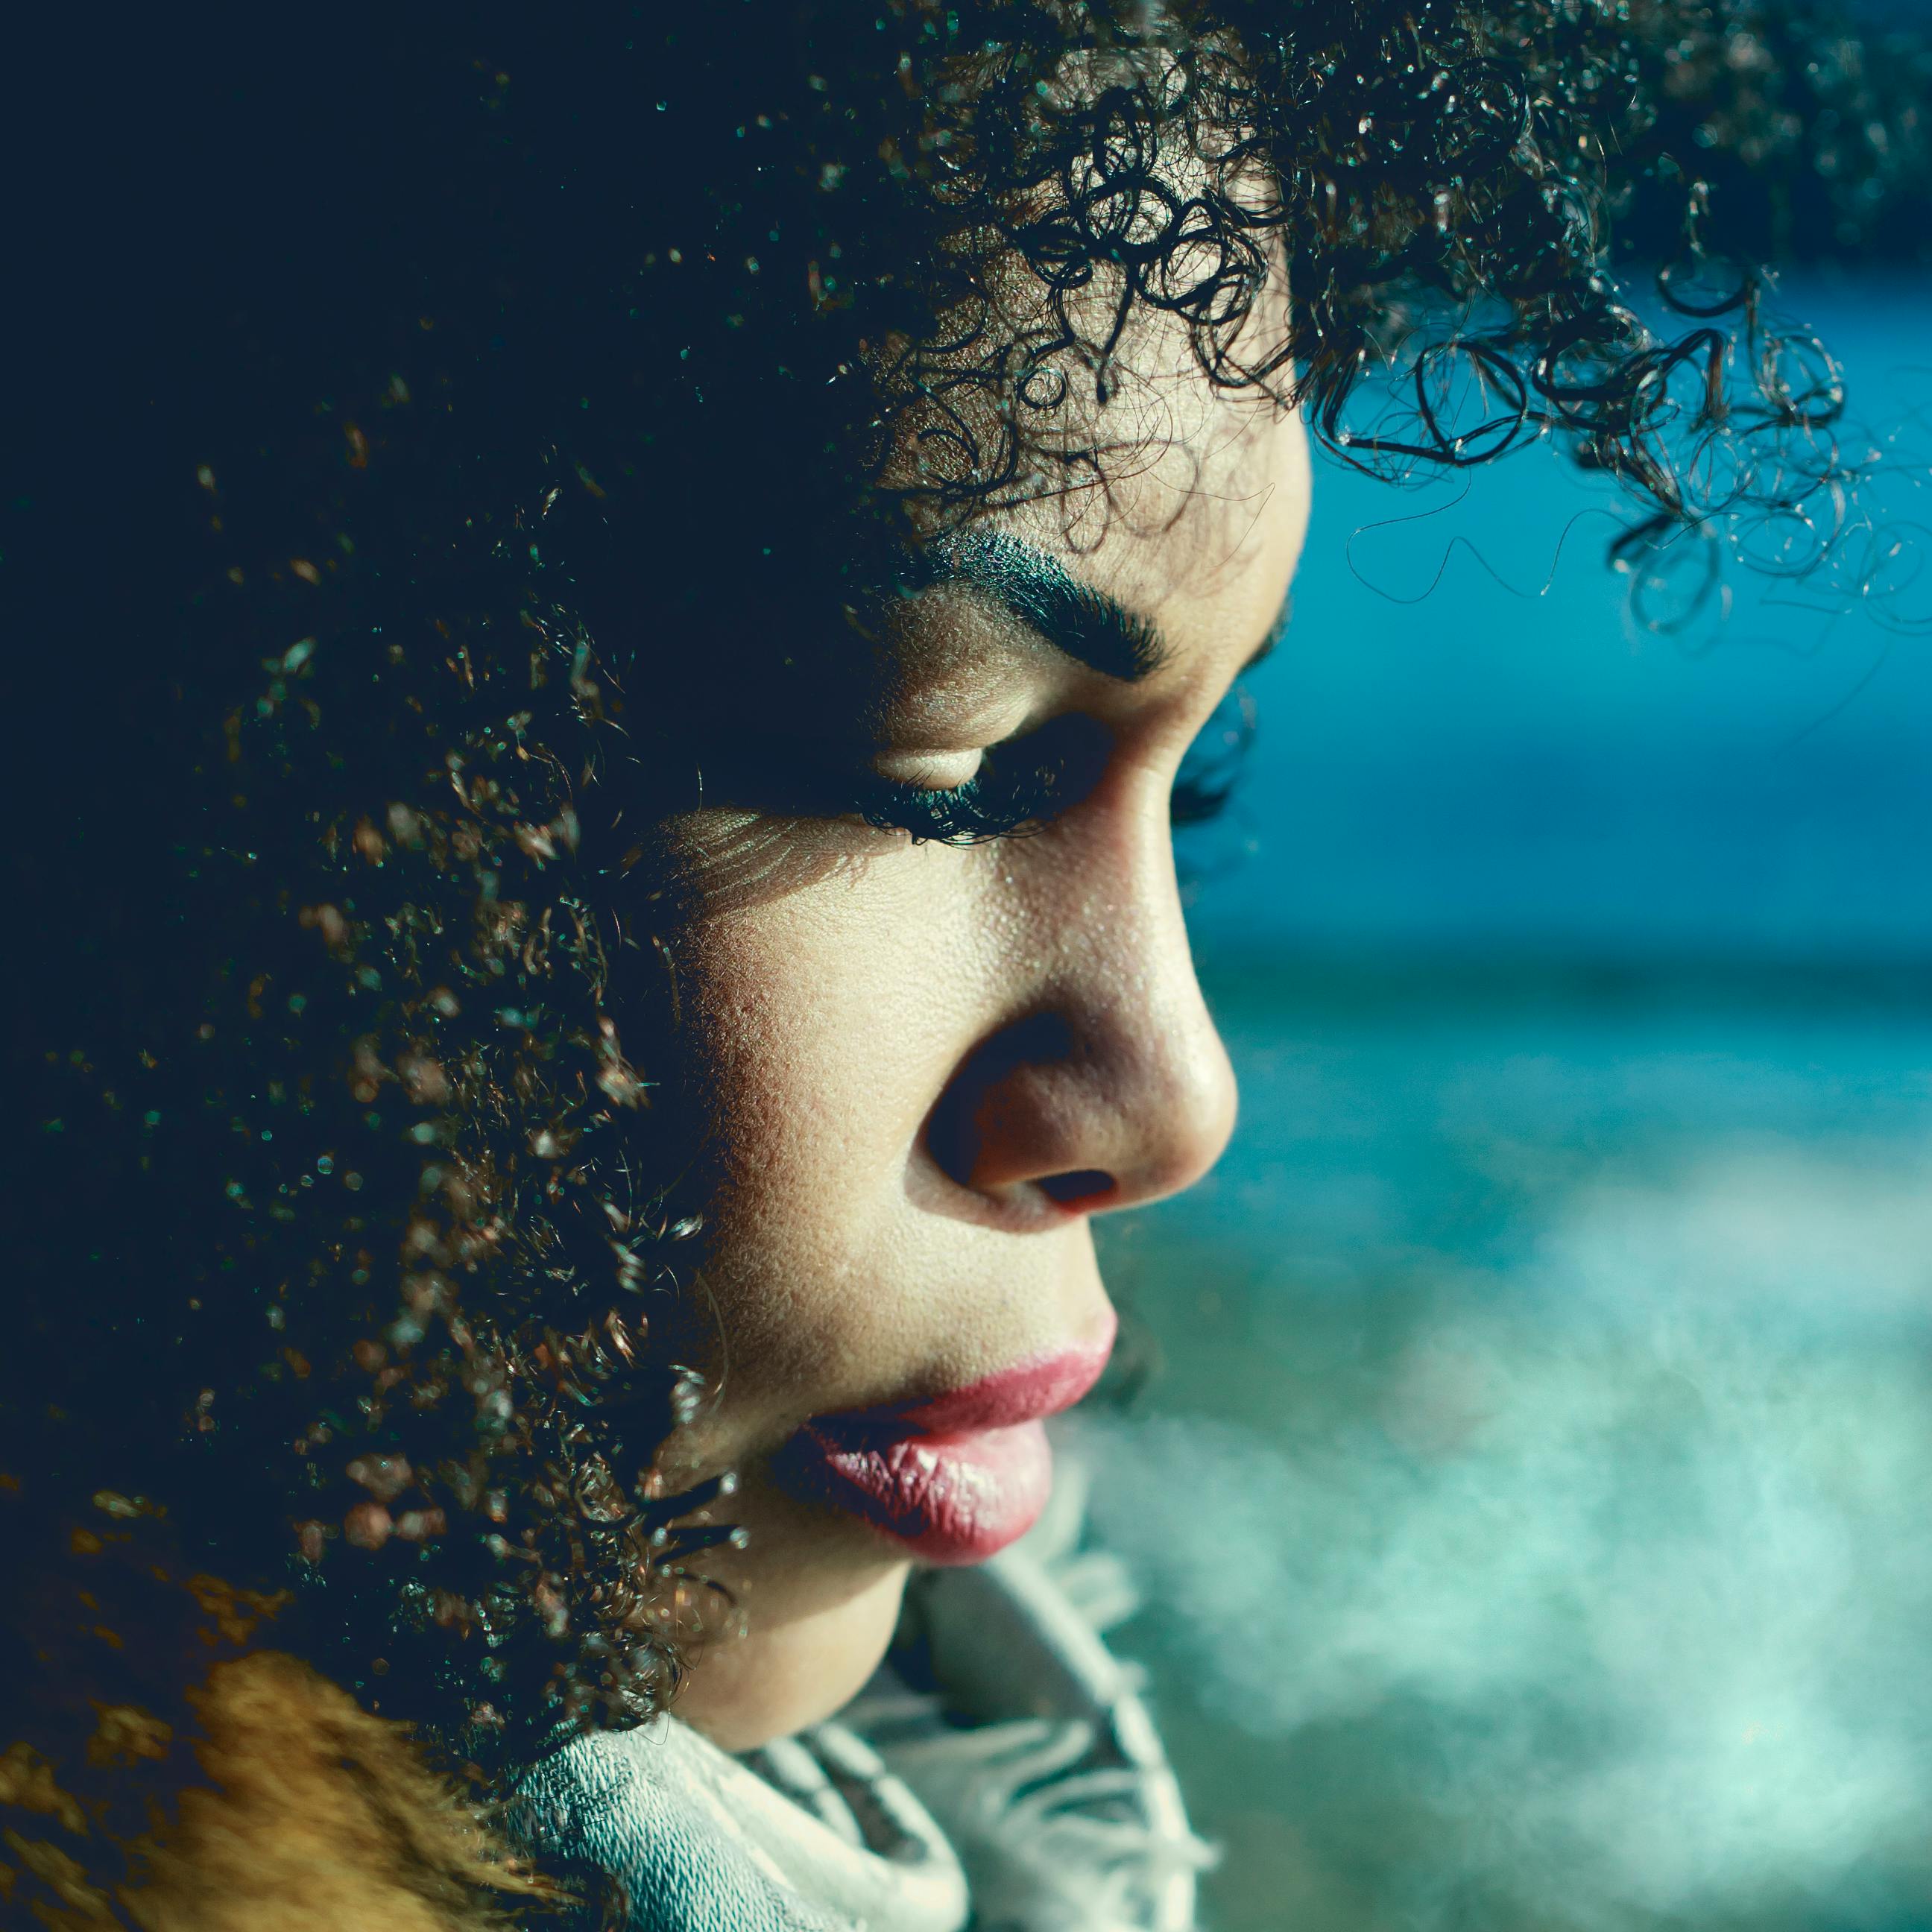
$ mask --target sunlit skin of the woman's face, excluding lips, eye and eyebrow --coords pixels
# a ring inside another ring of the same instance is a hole
[[[701,1281],[721,1395],[661,1466],[740,1472],[715,1513],[746,1548],[696,1565],[734,1609],[692,1596],[678,1704],[730,1748],[837,1710],[881,1658],[910,1571],[860,1517],[792,1493],[773,1453],[811,1416],[1092,1341],[1109,1314],[1090,1215],[1188,1186],[1233,1128],[1167,806],[1281,607],[1308,456],[1298,419],[1190,375],[1163,408],[1177,446],[1105,506],[999,520],[1167,638],[1140,684],[1028,659],[1026,703],[1105,726],[1094,790],[1026,838],[873,838],[792,891],[701,910],[684,943],[723,1169]],[[943,1148],[939,1119],[964,1122]],[[1068,1175],[1099,1179],[1068,1204],[1051,1186]]]

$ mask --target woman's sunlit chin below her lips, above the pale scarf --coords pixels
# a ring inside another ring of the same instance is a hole
[[[910,1575],[908,1561],[893,1559],[800,1615],[759,1623],[752,1613],[742,1634],[715,1636],[692,1656],[676,1716],[724,1750],[755,1750],[821,1723],[885,1658]]]

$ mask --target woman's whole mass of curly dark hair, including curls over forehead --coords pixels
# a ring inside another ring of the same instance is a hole
[[[1750,533],[1830,570],[1843,386],[1735,263],[1818,205],[1882,240],[1924,131],[1795,0],[253,31],[108,89],[135,220],[102,253],[145,325],[68,307],[89,379],[43,446],[133,514],[114,612],[56,585],[29,796],[62,813],[14,827],[58,935],[15,1009],[0,1488],[52,1578],[17,1640],[160,1698],[126,1629],[71,1660],[95,1586],[54,1555],[139,1520],[156,1588],[255,1592],[489,1766],[655,1710],[701,1569],[651,1474],[703,1399],[705,1095],[649,837],[694,719],[777,676],[777,626],[835,676],[908,547],[1103,493],[1150,323],[1343,462],[1555,440],[1625,493],[1640,580]],[[0,1735],[93,1803],[56,1675]]]

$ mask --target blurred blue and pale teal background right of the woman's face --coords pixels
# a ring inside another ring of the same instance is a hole
[[[1932,282],[1783,307],[1932,524]],[[1613,510],[1325,466],[1192,854],[1242,1126],[1080,1428],[1227,1932],[1932,1924],[1932,593],[1660,636]]]

